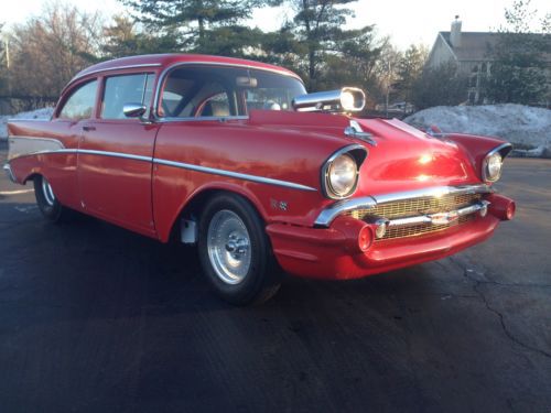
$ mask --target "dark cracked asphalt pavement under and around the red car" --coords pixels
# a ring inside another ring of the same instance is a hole
[[[47,224],[2,176],[0,412],[550,413],[551,161],[507,160],[498,188],[517,217],[480,246],[358,281],[289,276],[237,308],[193,248]]]

